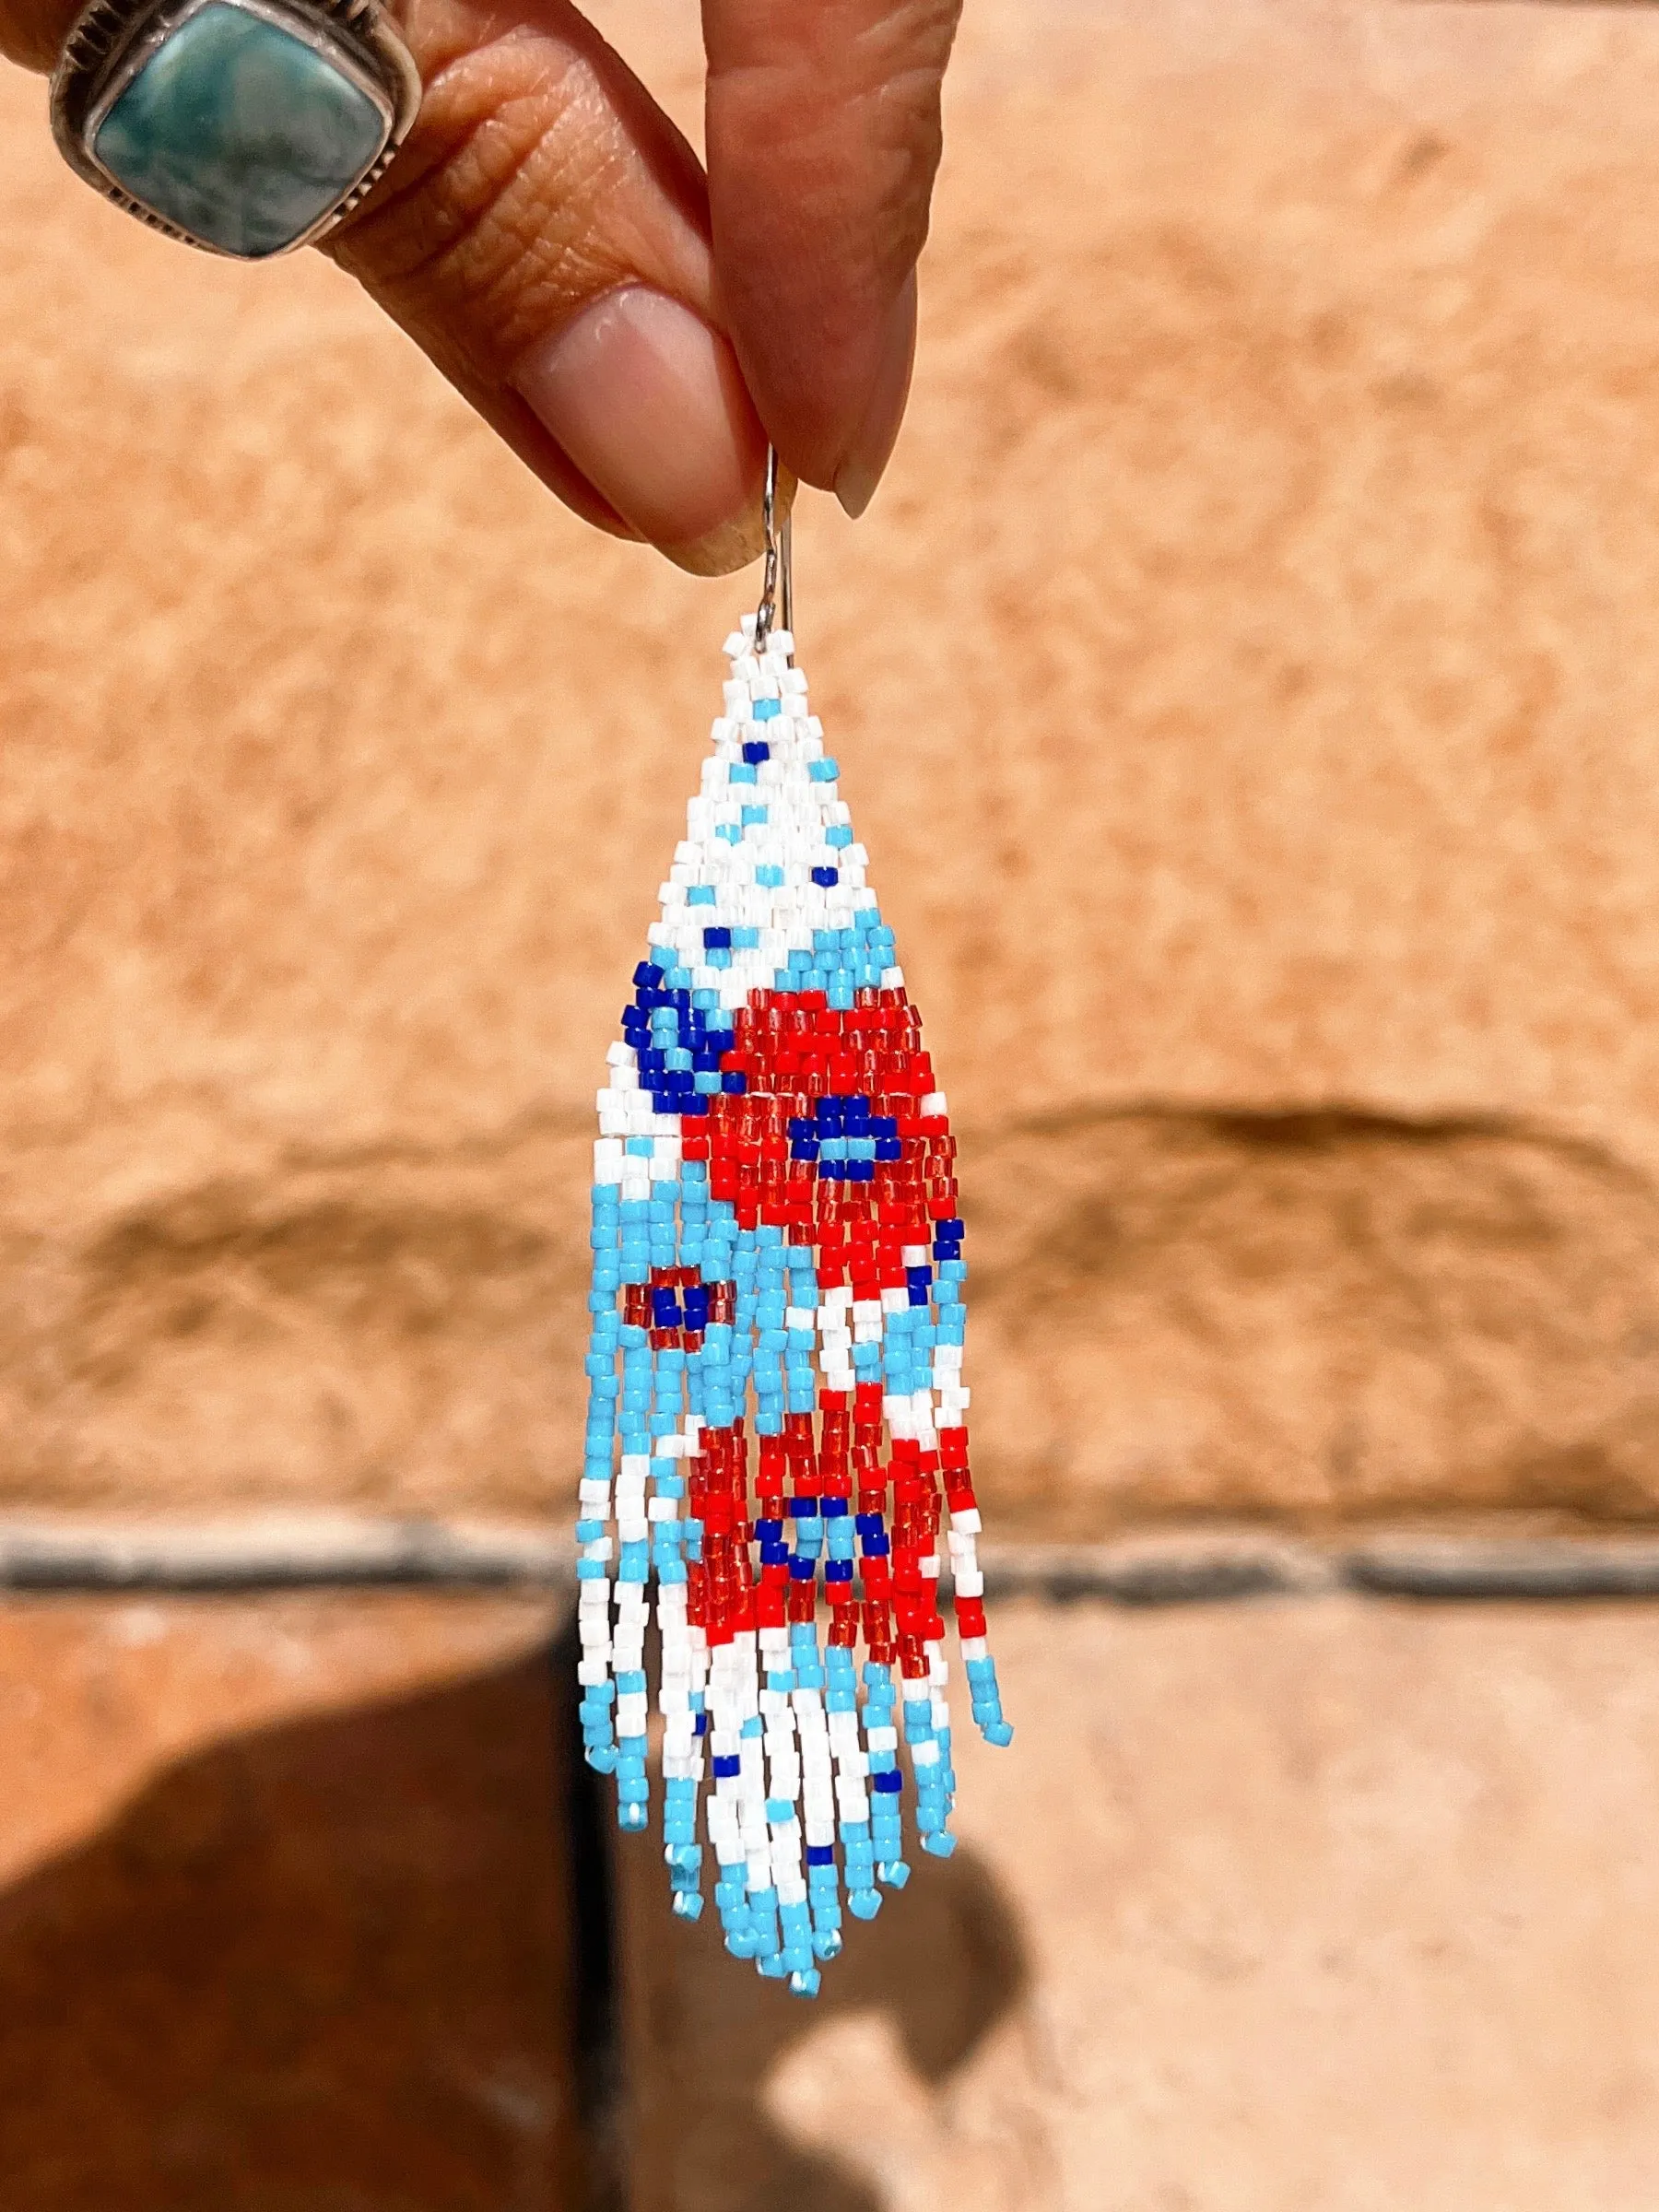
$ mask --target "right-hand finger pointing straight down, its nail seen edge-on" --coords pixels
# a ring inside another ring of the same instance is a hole
[[[721,314],[761,420],[849,513],[909,389],[960,0],[703,0]]]

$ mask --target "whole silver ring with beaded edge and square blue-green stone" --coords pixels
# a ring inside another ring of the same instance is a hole
[[[418,111],[376,0],[91,0],[51,80],[53,137],[86,184],[239,261],[347,215]]]

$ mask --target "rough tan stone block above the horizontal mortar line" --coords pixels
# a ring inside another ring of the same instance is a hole
[[[695,122],[695,9],[611,4]],[[975,0],[799,630],[1006,1524],[1659,1498],[1659,18]],[[699,584],[0,82],[0,1495],[535,1513]]]

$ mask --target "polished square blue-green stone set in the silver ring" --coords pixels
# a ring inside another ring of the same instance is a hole
[[[385,115],[336,62],[208,0],[122,91],[93,153],[168,223],[257,261],[327,215],[385,142]]]

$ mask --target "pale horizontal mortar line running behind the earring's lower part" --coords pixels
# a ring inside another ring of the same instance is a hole
[[[1119,1606],[1316,1597],[1659,1597],[1659,1533],[1504,1537],[1369,1531],[1310,1544],[1261,1531],[1161,1531],[1099,1544],[991,1542],[989,1597]],[[542,1522],[248,1513],[122,1517],[0,1513],[0,1590],[230,1593],[575,1586],[575,1544]],[[949,1590],[949,1575],[942,1577]]]

